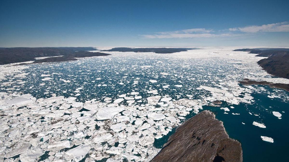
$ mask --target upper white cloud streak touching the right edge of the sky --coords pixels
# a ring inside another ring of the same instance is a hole
[[[246,33],[256,32],[289,32],[289,22],[279,22],[266,25],[253,25],[248,27],[230,28],[229,31],[241,31]]]

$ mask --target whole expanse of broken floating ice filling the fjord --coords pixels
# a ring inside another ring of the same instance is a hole
[[[67,151],[60,152],[59,149],[89,145],[95,148],[89,150],[88,158],[91,159],[101,160],[116,153],[110,159],[127,157],[149,161],[159,149],[154,148],[148,139],[167,134],[167,128],[180,125],[184,121],[180,119],[184,119],[190,110],[197,113],[202,105],[215,100],[232,104],[253,103],[250,94],[261,91],[274,98],[289,100],[279,89],[269,93],[262,87],[240,87],[238,81],[243,78],[280,83],[288,83],[288,80],[272,78],[262,70],[256,64],[262,58],[231,50],[204,49],[174,54],[140,52],[138,55],[109,52],[113,55],[70,62],[0,65],[0,94],[4,96],[0,108],[7,108],[5,113],[12,115],[4,116],[0,123],[4,128],[1,139],[8,146],[4,152],[11,152],[9,146],[13,144],[17,149],[31,143],[30,150],[40,150],[35,153],[23,151],[21,157],[38,156],[52,145],[55,147],[49,148],[53,152],[47,160],[71,160]],[[53,79],[42,81],[44,78]],[[19,110],[8,104],[28,93],[38,100],[28,97],[32,102],[28,100],[28,105],[25,103]],[[98,112],[102,108],[111,110]],[[111,129],[113,125],[116,125],[115,131]],[[20,137],[25,140],[16,140]],[[139,137],[143,139],[139,140]],[[72,143],[57,143],[67,140]],[[119,145],[114,147],[116,142]],[[148,146],[143,146],[146,144]],[[1,148],[4,147],[1,145]],[[134,155],[138,153],[140,157]]]

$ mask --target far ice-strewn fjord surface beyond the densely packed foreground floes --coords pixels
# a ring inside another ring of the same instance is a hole
[[[231,93],[238,88],[238,81],[243,78],[289,83],[288,79],[272,78],[262,70],[256,64],[262,57],[231,50],[233,48],[208,48],[173,54],[139,52],[137,56],[134,52],[108,52],[113,55],[61,63],[13,67],[1,65],[1,69],[5,70],[0,78],[5,79],[0,79],[0,82],[5,83],[1,88],[9,93],[20,91],[30,93],[36,98],[51,97],[54,94],[65,97],[76,96],[77,101],[81,102],[93,98],[102,101],[102,97],[115,100],[116,96],[120,95],[119,91],[127,93],[128,97],[133,96],[128,93],[136,91],[142,98],[156,94],[161,96],[174,94],[171,96],[173,99],[181,99],[190,98],[188,96],[194,94],[194,99],[202,99],[209,92],[202,95],[205,91],[198,90],[198,87],[208,86],[224,90],[228,88],[225,91]],[[220,66],[222,68],[219,68]],[[53,79],[46,80],[46,78]],[[157,82],[152,83],[150,80]],[[19,82],[24,83],[18,84]],[[123,84],[118,84],[120,82]],[[75,91],[79,86],[82,86],[82,89],[77,90],[79,92]],[[256,91],[255,89],[252,90]],[[288,100],[288,96],[284,97],[282,94],[276,93],[275,96]],[[228,100],[237,103],[236,100]],[[137,102],[138,100],[134,103]],[[129,101],[125,104],[134,103]]]

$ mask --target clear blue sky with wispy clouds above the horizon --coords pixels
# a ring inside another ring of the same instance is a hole
[[[0,47],[289,46],[289,1],[0,1]]]

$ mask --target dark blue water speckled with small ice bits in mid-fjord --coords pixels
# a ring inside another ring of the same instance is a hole
[[[160,62],[161,61],[161,62]],[[85,61],[71,61],[60,63],[32,64],[25,72],[29,73],[23,81],[25,84],[14,83],[21,92],[30,93],[36,98],[49,98],[52,94],[63,95],[64,97],[77,97],[77,101],[85,102],[90,99],[102,101],[102,97],[118,98],[118,95],[139,92],[142,98],[153,96],[148,94],[149,90],[158,90],[158,95],[171,95],[173,99],[188,98],[186,95],[193,95],[194,99],[202,99],[200,90],[196,90],[201,85],[212,86],[218,79],[226,79],[228,74],[235,73],[233,64],[226,64],[226,60],[214,60],[213,58],[192,60],[176,60],[173,58],[135,58],[135,57],[115,57],[113,59],[92,58]],[[149,65],[152,67],[141,67]],[[224,72],[222,69],[229,69]],[[161,72],[170,75],[161,75]],[[207,75],[208,73],[211,76]],[[49,74],[50,76],[41,76]],[[45,77],[53,78],[42,81]],[[100,78],[99,80],[97,80]],[[18,78],[7,78],[3,82],[13,81]],[[65,83],[60,79],[70,80]],[[149,80],[157,80],[151,83]],[[138,84],[134,84],[138,81]],[[124,83],[123,85],[119,84]],[[45,83],[45,85],[40,85]],[[98,85],[101,86],[98,86]],[[107,86],[103,86],[103,85]],[[162,86],[170,85],[169,88]],[[183,87],[175,87],[182,85]],[[7,88],[11,88],[7,87]],[[74,92],[76,88],[82,87],[79,96]],[[5,90],[4,90],[5,91]],[[66,93],[63,93],[66,91]],[[202,94],[209,95],[210,92],[203,91]]]

